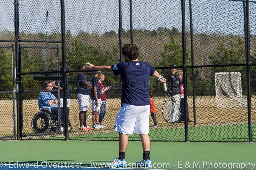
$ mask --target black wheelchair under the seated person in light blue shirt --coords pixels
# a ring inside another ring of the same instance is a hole
[[[47,132],[61,132],[58,127],[59,116],[50,112],[50,108],[39,108],[32,118],[32,129],[35,133],[47,133]],[[60,124],[62,124],[60,120]],[[68,119],[68,125],[71,127],[71,123]],[[72,130],[72,127],[71,127]],[[69,130],[69,132],[71,131]]]

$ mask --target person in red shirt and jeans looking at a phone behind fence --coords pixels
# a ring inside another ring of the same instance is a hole
[[[106,115],[106,94],[105,92],[108,91],[110,89],[110,87],[104,87],[104,85],[102,84],[102,82],[105,80],[105,75],[104,74],[99,74],[99,86],[100,86],[100,98],[102,101],[102,104],[100,106],[100,120],[99,120],[99,124],[102,126],[103,124],[103,119]],[[105,126],[104,126],[105,127]]]

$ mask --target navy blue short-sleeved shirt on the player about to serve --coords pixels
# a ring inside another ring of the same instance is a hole
[[[155,68],[147,62],[130,61],[120,62],[111,66],[115,76],[121,75],[123,88],[123,103],[146,106],[150,105],[148,93],[149,76]]]

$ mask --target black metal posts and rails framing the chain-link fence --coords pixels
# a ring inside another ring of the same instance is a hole
[[[184,110],[185,110],[185,126],[184,126],[184,141],[189,141],[188,135],[188,113],[187,113],[187,78],[186,72],[188,68],[192,69],[192,79],[193,79],[193,117],[194,117],[194,125],[196,125],[196,109],[195,109],[195,75],[194,69],[195,68],[206,68],[206,67],[231,67],[231,66],[246,66],[247,68],[247,110],[248,110],[248,142],[252,142],[252,120],[251,120],[251,84],[250,84],[250,67],[255,66],[256,63],[250,63],[250,16],[249,16],[249,5],[250,3],[255,3],[254,1],[249,0],[230,0],[230,1],[240,1],[243,4],[243,12],[244,12],[244,36],[245,36],[245,51],[246,51],[246,63],[243,64],[225,64],[225,65],[194,65],[194,46],[193,46],[193,18],[192,18],[192,2],[189,0],[189,21],[190,21],[190,43],[191,43],[191,65],[186,65],[186,29],[185,29],[185,0],[181,0],[181,14],[182,14],[182,50],[183,50],[183,66],[182,67],[175,67],[175,68],[182,68],[184,73]],[[120,62],[122,61],[122,6],[121,0],[118,1],[119,3],[119,55],[120,55]],[[129,0],[130,5],[130,42],[133,43],[133,17],[132,17],[132,0]],[[66,73],[69,72],[66,70],[66,38],[65,38],[65,6],[64,0],[60,0],[61,6],[61,41],[48,41],[48,43],[61,43],[62,45],[62,71],[49,71],[49,72],[34,72],[34,73],[22,73],[21,70],[21,42],[33,42],[33,43],[42,43],[45,41],[33,41],[33,40],[20,40],[19,39],[19,2],[18,0],[14,0],[14,24],[15,24],[15,40],[0,40],[0,42],[13,42],[15,43],[12,47],[13,51],[15,49],[15,63],[16,63],[16,73],[13,72],[13,79],[15,77],[16,88],[13,84],[13,93],[16,93],[16,110],[17,110],[17,139],[20,140],[24,134],[22,134],[22,91],[20,88],[22,86],[22,75],[25,74],[62,74],[63,76],[63,85],[66,86]],[[1,47],[0,47],[1,48]],[[14,53],[13,53],[14,55]],[[156,67],[156,69],[170,69],[171,67]],[[14,65],[13,65],[14,69]],[[14,82],[14,81],[13,81]],[[16,89],[16,92],[15,92]],[[67,91],[64,88],[63,98],[67,99]],[[14,99],[15,102],[15,99]],[[122,99],[121,99],[121,106],[122,106]],[[67,102],[66,100],[63,101],[64,105],[64,120],[65,120],[65,140],[69,140],[68,134],[68,119],[67,119]],[[15,107],[15,106],[14,106]],[[15,108],[14,108],[14,120],[15,120]],[[14,121],[14,136],[15,139],[15,121]],[[0,137],[1,139],[1,137]]]

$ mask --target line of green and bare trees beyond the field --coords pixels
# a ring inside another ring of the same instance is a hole
[[[141,50],[139,60],[149,62],[154,67],[166,67],[171,64],[176,64],[177,66],[182,66],[182,44],[180,43],[181,33],[176,29],[158,28],[157,30],[134,30],[134,38],[137,37],[137,44]],[[124,43],[129,42],[129,30],[123,30]],[[138,36],[140,35],[140,36]],[[160,39],[162,35],[162,41]],[[217,35],[216,35],[217,36]],[[244,40],[240,36],[226,35],[226,37],[231,37],[226,43],[219,42],[218,45],[209,45],[212,41],[216,41],[216,36],[212,35],[195,35],[195,37],[200,37],[202,41],[206,41],[205,47],[195,47],[195,64],[196,65],[221,65],[221,64],[241,64],[245,63],[245,47]],[[155,37],[155,39],[154,39]],[[202,39],[204,37],[204,39]],[[66,55],[67,55],[67,65],[72,68],[72,70],[77,70],[79,64],[85,64],[90,62],[95,65],[112,65],[119,62],[119,47],[118,34],[114,31],[106,32],[103,35],[92,35],[84,32],[80,32],[76,36],[71,34],[66,34],[67,45],[66,45]],[[90,39],[91,38],[91,39]],[[149,41],[151,46],[143,46],[139,39],[143,41]],[[208,39],[208,40],[207,40]],[[100,42],[94,43],[94,40]],[[115,41],[116,42],[115,42]],[[155,41],[153,41],[155,40]],[[163,44],[159,46],[159,42]],[[89,42],[89,43],[88,43]],[[112,43],[110,43],[112,42]],[[164,43],[163,43],[164,42]],[[227,43],[228,42],[228,43]],[[153,43],[153,44],[152,44]],[[207,46],[207,44],[209,46]],[[157,50],[158,48],[158,50]],[[202,51],[203,56],[198,57],[197,53]],[[207,51],[207,52],[205,52]],[[151,53],[154,56],[151,56]],[[58,51],[55,49],[48,50],[48,68],[49,70],[57,71],[57,55]],[[61,58],[61,50],[59,51],[59,57]],[[187,65],[191,65],[191,52],[189,47],[186,51]],[[0,59],[2,64],[0,65],[0,81],[1,87],[0,91],[6,91],[6,89],[12,89],[12,52],[0,49]],[[256,63],[256,54],[251,55],[251,63]],[[23,72],[36,72],[36,71],[46,71],[46,56],[45,49],[23,49],[22,50],[22,71]],[[169,69],[159,69],[160,74],[168,77],[170,72]],[[242,94],[247,93],[247,75],[246,67],[211,67],[211,68],[196,68],[194,69],[194,79],[195,79],[195,92],[198,96],[213,96],[215,95],[215,72],[241,72],[242,79]],[[251,75],[255,75],[256,69],[254,66],[251,67]],[[93,73],[85,73],[88,75],[90,80]],[[70,91],[71,98],[76,98],[76,82],[74,82],[77,73],[70,73]],[[39,80],[34,80],[31,75],[24,75],[22,77],[22,89],[24,90],[41,90],[42,82]],[[119,77],[115,77],[113,74],[107,74],[105,84],[116,86],[113,92],[109,91],[108,97],[119,97],[120,88]],[[192,69],[187,69],[187,84],[188,84],[188,95],[192,95]],[[256,93],[256,78],[251,76],[251,91],[252,94]],[[162,86],[156,80],[150,79],[150,91],[153,91],[155,95],[162,94]],[[1,98],[7,98],[6,95],[0,94]],[[35,94],[36,96],[36,94]],[[23,98],[35,98],[31,97],[29,93],[24,94]]]

